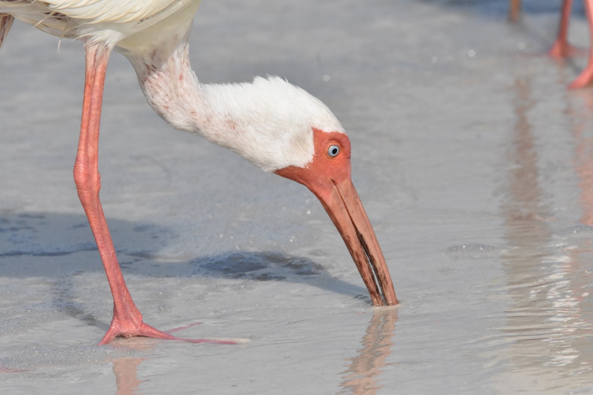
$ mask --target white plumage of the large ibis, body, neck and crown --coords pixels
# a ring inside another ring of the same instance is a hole
[[[132,63],[146,99],[176,129],[228,147],[264,171],[304,167],[313,128],[343,128],[318,99],[278,77],[203,85],[187,34],[199,0],[0,1],[0,12],[60,37],[101,43]]]

